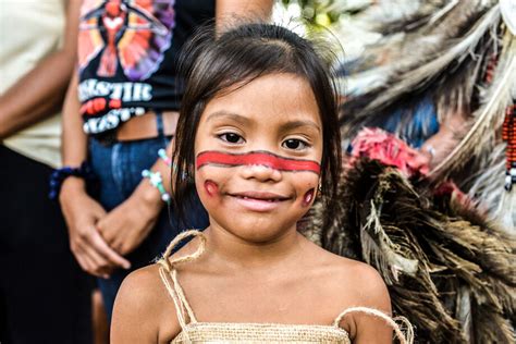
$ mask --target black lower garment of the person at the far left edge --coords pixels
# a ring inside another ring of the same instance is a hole
[[[69,249],[52,170],[0,146],[0,291],[5,343],[90,343],[90,283]]]

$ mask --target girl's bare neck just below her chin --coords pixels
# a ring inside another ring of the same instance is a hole
[[[303,236],[294,229],[267,242],[246,241],[212,224],[206,231],[208,250],[228,267],[247,270],[270,269],[297,256]]]

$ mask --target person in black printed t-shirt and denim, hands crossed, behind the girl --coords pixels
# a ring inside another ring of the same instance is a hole
[[[176,58],[206,21],[269,16],[272,0],[84,0],[78,65],[63,111],[63,164],[88,160],[100,180],[98,197],[85,182],[67,177],[60,202],[81,267],[99,277],[108,315],[132,270],[161,254],[179,231],[205,228],[206,212],[194,202],[186,223],[175,221],[165,191],[142,177],[160,172],[168,189],[170,168],[158,159],[174,143],[182,88]],[[156,179],[155,179],[156,180]],[[172,222],[172,223],[170,223]]]

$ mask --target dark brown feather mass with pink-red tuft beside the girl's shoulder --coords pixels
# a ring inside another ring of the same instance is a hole
[[[435,189],[423,170],[400,169],[396,157],[413,155],[403,152],[410,148],[400,144],[393,150],[393,138],[383,137],[383,153],[354,153],[334,222],[322,228],[318,206],[305,233],[377,268],[395,311],[416,325],[420,343],[513,343],[515,242],[454,184]]]

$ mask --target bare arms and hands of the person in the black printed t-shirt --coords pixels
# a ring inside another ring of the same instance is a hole
[[[272,0],[217,0],[216,22],[222,28],[235,17],[269,17]],[[78,14],[77,14],[78,16]],[[77,21],[77,20],[76,20]],[[87,135],[78,115],[77,72],[71,81],[63,108],[63,164],[76,167],[87,158]],[[167,147],[172,155],[174,140]],[[161,172],[163,185],[170,192],[170,168],[160,159],[151,168]],[[108,278],[116,268],[130,268],[125,255],[134,250],[148,236],[156,224],[163,201],[160,193],[143,180],[134,193],[120,206],[107,212],[86,194],[84,181],[69,177],[60,194],[70,234],[70,246],[81,267],[90,274]]]

